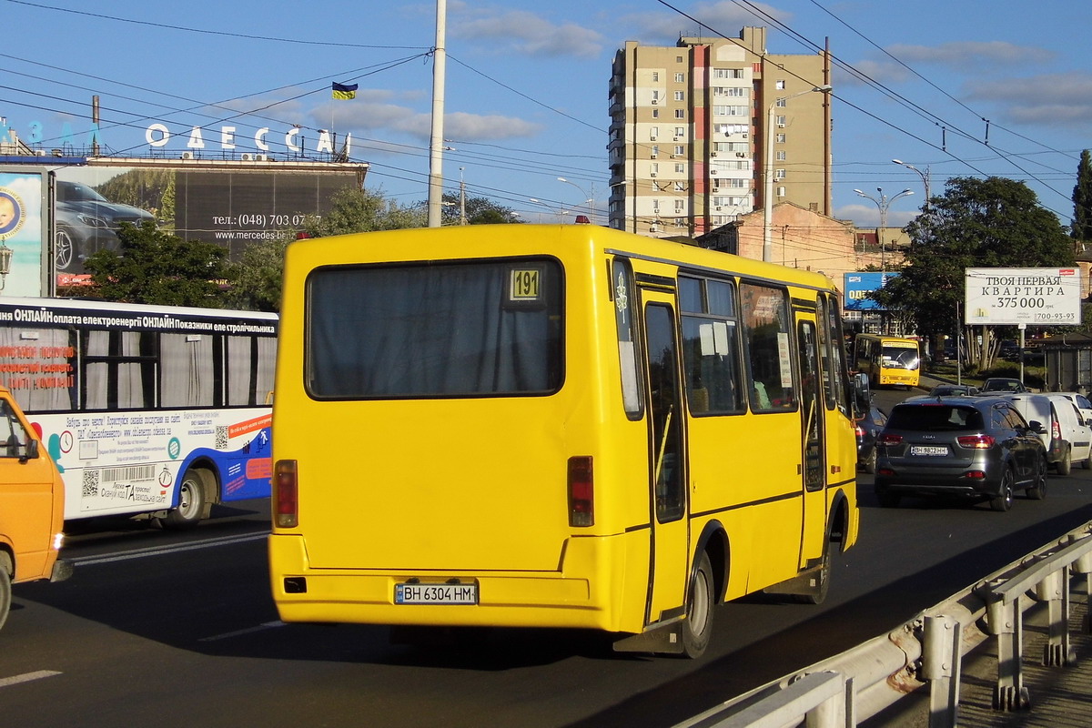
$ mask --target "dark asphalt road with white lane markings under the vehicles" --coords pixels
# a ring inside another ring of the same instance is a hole
[[[217,509],[183,534],[83,526],[66,547],[71,580],[14,587],[0,631],[0,726],[670,726],[886,632],[1092,521],[1092,472],[1081,469],[1052,475],[1045,501],[1018,498],[1008,513],[914,500],[880,509],[868,476],[859,493],[862,538],[827,602],[719,607],[700,660],[615,655],[577,631],[422,647],[391,645],[381,626],[283,625],[262,502]]]

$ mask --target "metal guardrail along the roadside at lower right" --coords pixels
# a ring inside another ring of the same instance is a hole
[[[954,728],[962,659],[997,637],[998,711],[1030,705],[1021,670],[1023,613],[1047,604],[1043,664],[1065,667],[1069,641],[1070,582],[1083,576],[1083,629],[1092,631],[1092,522],[1073,529],[985,580],[919,612],[891,632],[830,659],[722,703],[676,728],[808,728],[856,726],[901,697],[929,685],[930,728]],[[1032,596],[1033,595],[1033,596]]]

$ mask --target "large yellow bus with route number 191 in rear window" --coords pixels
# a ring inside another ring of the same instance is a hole
[[[697,657],[716,604],[819,602],[857,539],[823,275],[590,225],[394,230],[289,244],[281,315],[285,622]]]

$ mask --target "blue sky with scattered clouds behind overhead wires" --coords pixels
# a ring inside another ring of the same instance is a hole
[[[756,25],[771,53],[829,44],[833,214],[859,226],[879,224],[885,198],[887,224],[904,225],[926,179],[936,195],[963,176],[1024,181],[1068,225],[1092,147],[1087,0],[446,5],[444,189],[462,182],[527,222],[593,206],[605,222],[607,89],[627,40],[673,46]],[[83,143],[93,96],[104,146],[123,156],[176,156],[194,127],[203,156],[260,152],[260,128],[283,155],[298,126],[298,154],[318,157],[323,132],[339,147],[352,134],[367,189],[427,200],[435,1],[0,0],[0,117],[24,139]],[[332,99],[333,82],[357,84],[356,98]]]

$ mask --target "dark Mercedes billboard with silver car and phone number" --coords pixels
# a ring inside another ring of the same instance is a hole
[[[227,249],[238,260],[250,243],[300,228],[323,215],[335,192],[359,188],[359,166],[185,163],[71,166],[56,172],[54,266],[58,285],[85,279],[83,262],[117,249],[121,223],[157,227],[183,240]]]

